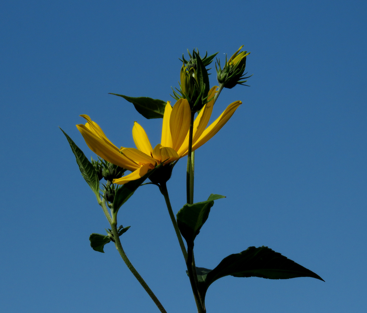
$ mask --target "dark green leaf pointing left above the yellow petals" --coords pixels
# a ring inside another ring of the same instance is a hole
[[[166,108],[166,101],[159,99],[152,99],[149,97],[128,97],[123,94],[110,93],[115,96],[123,97],[125,100],[134,104],[135,109],[147,119],[161,119]]]

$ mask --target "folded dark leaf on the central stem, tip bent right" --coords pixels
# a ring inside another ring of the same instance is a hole
[[[183,208],[178,211],[178,228],[188,245],[193,245],[195,237],[200,232],[200,228],[208,219],[210,208],[214,205],[214,200],[221,198],[225,198],[225,196],[211,194],[207,201],[185,204]]]

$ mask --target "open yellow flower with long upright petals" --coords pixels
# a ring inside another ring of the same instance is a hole
[[[225,111],[208,127],[213,105],[215,90],[217,86],[210,89],[208,99],[211,99],[201,109],[194,121],[192,150],[199,148],[213,137],[223,126],[241,101],[231,103]],[[126,168],[132,173],[113,180],[113,183],[123,185],[131,180],[141,178],[156,164],[164,162],[170,164],[183,156],[186,156],[189,148],[190,106],[186,99],[179,99],[173,108],[167,102],[162,125],[161,143],[152,148],[144,129],[134,122],[132,138],[135,148],[117,148],[106,135],[101,127],[93,122],[88,115],[80,115],[87,120],[85,125],[76,125],[83,135],[88,147],[102,159],[115,165]]]

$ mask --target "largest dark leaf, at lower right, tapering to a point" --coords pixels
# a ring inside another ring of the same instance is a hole
[[[207,271],[200,274],[204,282],[200,283],[199,288],[204,298],[210,284],[228,275],[268,279],[313,277],[324,281],[316,273],[265,246],[248,247],[240,253],[231,254],[225,257],[212,271],[208,269]],[[204,275],[206,276],[204,277]]]

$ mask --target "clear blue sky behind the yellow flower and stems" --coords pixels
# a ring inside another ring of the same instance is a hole
[[[240,45],[251,51],[251,87],[222,92],[214,116],[243,105],[196,153],[195,201],[227,196],[197,237],[196,264],[213,268],[265,245],[326,282],[225,277],[209,288],[208,313],[363,312],[366,9],[366,1],[3,1],[1,312],[158,312],[112,244],[105,254],[89,246],[108,223],[58,126],[88,157],[80,114],[127,147],[136,120],[154,146],[161,120],[108,93],[170,100],[187,48],[223,60]],[[168,182],[175,212],[184,179],[185,159]],[[195,312],[157,188],[141,187],[119,218],[131,226],[128,256],[168,313]]]

